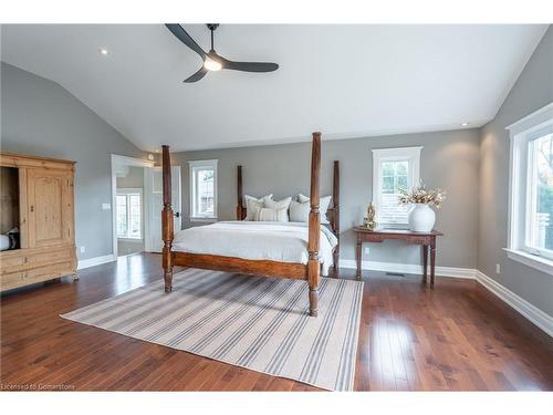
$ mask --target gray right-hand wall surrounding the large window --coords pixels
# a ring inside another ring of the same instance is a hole
[[[482,128],[478,269],[553,315],[553,278],[507,258],[509,133],[505,127],[553,101],[553,29],[512,87],[495,118]],[[495,273],[501,264],[501,274]]]

